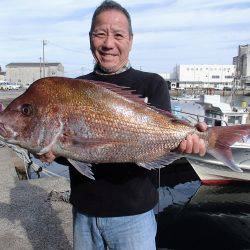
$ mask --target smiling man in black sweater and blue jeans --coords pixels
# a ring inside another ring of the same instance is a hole
[[[114,1],[104,1],[94,12],[89,32],[96,60],[94,71],[80,79],[130,87],[157,108],[171,110],[168,88],[157,74],[133,69],[129,63],[133,32],[130,15]],[[204,124],[199,125],[205,130]],[[189,136],[179,150],[205,154],[198,136]],[[47,157],[47,158],[46,158]],[[44,160],[54,156],[47,154]],[[70,168],[75,249],[155,249],[153,207],[158,194],[150,181],[156,172],[133,163],[95,164],[96,180]]]

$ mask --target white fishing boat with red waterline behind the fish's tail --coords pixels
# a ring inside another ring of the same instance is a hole
[[[246,104],[235,107],[221,102],[218,95],[201,96],[198,102],[204,108],[203,120],[208,126],[232,126],[248,123],[249,112]],[[200,118],[200,117],[199,117]],[[199,119],[201,120],[201,119]],[[236,164],[243,170],[234,172],[213,156],[188,155],[187,160],[203,184],[226,184],[232,181],[250,181],[250,140],[244,138],[231,146]]]

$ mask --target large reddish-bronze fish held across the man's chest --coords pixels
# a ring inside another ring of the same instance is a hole
[[[129,90],[108,83],[63,77],[34,82],[0,114],[0,139],[35,154],[53,152],[85,163],[163,162],[189,134],[208,150],[230,158],[229,145],[248,126],[198,132]],[[232,161],[227,161],[237,169]]]

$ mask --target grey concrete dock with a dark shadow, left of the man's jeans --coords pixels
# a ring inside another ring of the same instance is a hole
[[[0,249],[72,249],[71,205],[48,199],[53,190],[69,190],[68,181],[19,181],[12,157],[0,148]]]

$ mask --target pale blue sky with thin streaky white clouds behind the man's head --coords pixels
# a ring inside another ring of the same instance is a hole
[[[0,65],[62,62],[75,77],[93,68],[88,31],[101,1],[0,0]],[[133,67],[171,72],[176,64],[231,64],[250,43],[250,1],[121,0],[132,17]]]

